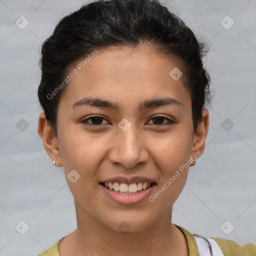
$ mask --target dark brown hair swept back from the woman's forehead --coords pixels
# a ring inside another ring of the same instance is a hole
[[[158,0],[99,0],[63,17],[41,47],[41,81],[37,95],[55,136],[57,106],[68,86],[63,84],[68,67],[95,48],[136,47],[141,42],[182,63],[192,102],[193,131],[196,131],[202,120],[202,109],[210,103],[211,96],[210,77],[202,63],[209,50],[206,43],[196,38],[191,29]],[[57,87],[60,84],[62,86]]]

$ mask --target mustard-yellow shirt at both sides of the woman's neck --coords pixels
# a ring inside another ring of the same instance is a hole
[[[194,236],[183,227],[178,225],[175,226],[179,228],[185,236],[189,256],[200,256]],[[251,242],[248,242],[244,245],[239,245],[238,243],[228,239],[217,238],[214,236],[211,236],[210,238],[215,240],[224,256],[256,256],[256,245]],[[58,240],[57,243],[43,251],[38,256],[60,256],[58,253],[58,244],[60,240]]]

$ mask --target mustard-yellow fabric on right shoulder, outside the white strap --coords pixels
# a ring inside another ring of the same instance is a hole
[[[239,245],[233,240],[214,236],[211,236],[210,238],[217,243],[224,256],[256,256],[256,245],[251,242]]]

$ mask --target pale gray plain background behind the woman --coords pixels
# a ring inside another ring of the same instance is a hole
[[[76,228],[63,169],[52,164],[37,134],[36,93],[42,41],[57,19],[83,3],[0,0],[1,256],[37,255]],[[167,3],[175,4],[197,35],[210,40],[205,61],[215,90],[205,151],[189,169],[172,222],[192,233],[256,244],[256,1]],[[15,24],[21,15],[29,21],[24,29]],[[226,15],[234,21],[229,29],[220,23]],[[28,123],[23,131],[16,126],[21,118]],[[221,126],[226,118],[234,124],[229,131]],[[21,220],[29,226],[24,234],[15,229]],[[234,226],[229,234],[221,230],[226,220]]]

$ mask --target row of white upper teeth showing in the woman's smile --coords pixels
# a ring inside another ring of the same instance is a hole
[[[114,191],[120,191],[120,192],[137,192],[141,189],[146,189],[149,187],[151,183],[147,182],[138,182],[138,183],[132,183],[132,184],[126,184],[126,183],[118,183],[118,182],[105,182],[105,186],[108,187],[110,190],[114,189]]]

